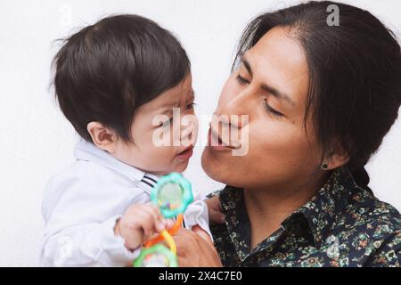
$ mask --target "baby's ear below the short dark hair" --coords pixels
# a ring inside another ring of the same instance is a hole
[[[92,142],[103,151],[113,153],[116,148],[117,135],[108,127],[99,122],[90,122],[86,126],[87,132],[91,135]]]

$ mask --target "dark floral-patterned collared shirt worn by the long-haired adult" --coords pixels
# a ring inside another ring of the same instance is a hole
[[[211,225],[225,266],[400,266],[401,216],[356,184],[347,167],[334,170],[306,205],[250,248],[242,189],[218,192],[224,224]]]

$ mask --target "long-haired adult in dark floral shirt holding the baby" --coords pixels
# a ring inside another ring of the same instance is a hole
[[[309,2],[252,20],[215,111],[249,115],[235,123],[249,128],[249,151],[205,148],[202,167],[226,184],[209,213],[224,222],[212,226],[216,249],[178,232],[179,264],[399,266],[400,215],[374,197],[364,166],[400,103],[400,46],[370,12]]]

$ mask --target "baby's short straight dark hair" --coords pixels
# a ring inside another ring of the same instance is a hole
[[[78,134],[98,121],[126,142],[135,110],[174,87],[191,64],[176,37],[137,15],[116,15],[63,40],[53,59],[55,96]]]

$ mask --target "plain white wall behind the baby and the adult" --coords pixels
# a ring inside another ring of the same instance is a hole
[[[398,0],[349,1],[390,28],[401,27]],[[173,30],[191,60],[199,114],[210,114],[229,74],[245,23],[259,12],[295,1],[11,1],[0,2],[0,265],[37,265],[47,179],[72,161],[76,136],[48,90],[56,38],[110,13],[138,13]],[[203,130],[201,136],[206,135]],[[377,196],[401,209],[401,123],[368,169]],[[201,147],[186,175],[204,192],[219,183],[203,174]]]

